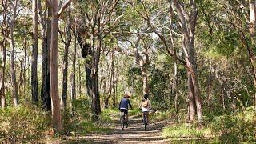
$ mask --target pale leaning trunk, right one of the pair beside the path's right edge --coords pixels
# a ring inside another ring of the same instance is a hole
[[[197,68],[194,58],[194,32],[198,17],[198,10],[196,2],[190,1],[191,14],[189,15],[184,7],[178,0],[174,0],[173,6],[178,11],[178,17],[180,19],[180,25],[182,26],[182,49],[185,54],[185,61],[187,70],[189,70],[189,75],[191,76],[193,87],[194,87],[194,99],[196,102],[196,110],[198,115],[198,122],[202,122],[202,101],[201,94],[198,84]]]

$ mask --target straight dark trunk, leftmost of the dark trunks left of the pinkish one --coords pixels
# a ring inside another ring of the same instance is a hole
[[[33,50],[31,59],[32,102],[38,104],[38,1],[33,0]]]

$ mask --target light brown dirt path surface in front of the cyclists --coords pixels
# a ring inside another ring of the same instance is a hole
[[[108,134],[87,134],[69,138],[64,143],[169,143],[162,137],[162,129],[168,124],[166,121],[154,122],[145,131],[141,118],[130,118],[129,127],[121,129],[116,118],[115,125],[110,128]]]

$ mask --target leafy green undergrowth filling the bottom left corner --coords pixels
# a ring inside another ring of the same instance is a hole
[[[50,116],[35,106],[0,110],[0,142],[43,142]]]

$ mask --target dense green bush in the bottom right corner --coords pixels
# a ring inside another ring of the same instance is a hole
[[[221,142],[256,142],[255,113],[222,115],[214,118],[213,130]]]

